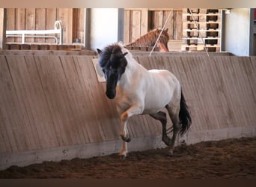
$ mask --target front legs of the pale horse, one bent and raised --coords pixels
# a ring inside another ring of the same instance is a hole
[[[120,156],[127,156],[128,150],[127,150],[127,142],[131,141],[131,137],[128,132],[127,128],[127,121],[129,117],[132,117],[135,114],[141,114],[143,109],[139,107],[138,105],[132,105],[127,111],[124,111],[123,114],[121,114],[121,129],[120,129],[120,136],[123,140],[123,148],[120,152]]]

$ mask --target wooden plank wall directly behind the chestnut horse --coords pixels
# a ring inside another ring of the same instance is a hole
[[[182,9],[137,8],[124,10],[124,43],[130,43],[154,28],[162,28],[169,13],[171,17],[165,28],[168,28],[170,40],[182,40]]]

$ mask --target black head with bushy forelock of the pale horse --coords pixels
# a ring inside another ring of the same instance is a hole
[[[99,64],[106,79],[106,96],[114,99],[118,80],[127,66],[125,58],[127,52],[123,53],[119,45],[106,46],[103,50],[97,49],[97,52],[100,55]]]

